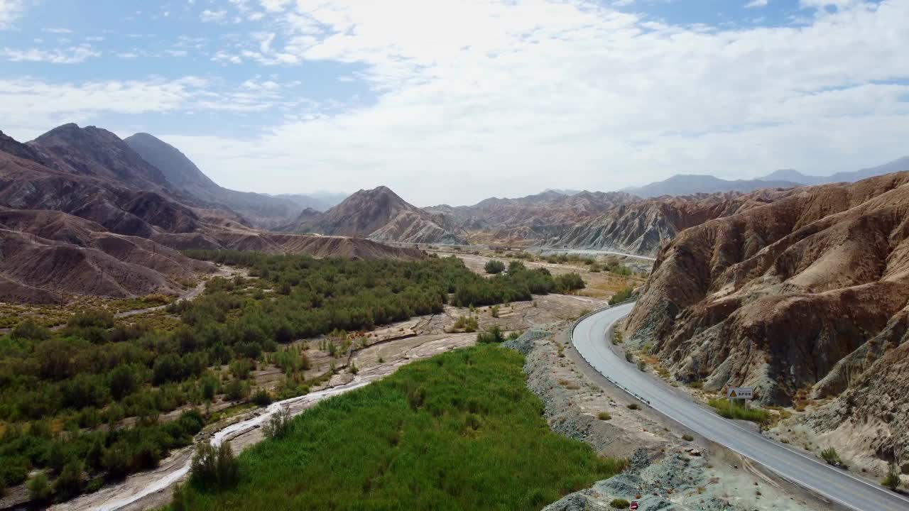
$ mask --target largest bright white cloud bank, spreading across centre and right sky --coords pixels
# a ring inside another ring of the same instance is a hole
[[[238,58],[355,65],[375,100],[305,105],[245,138],[170,135],[241,189],[386,184],[425,205],[833,172],[904,151],[909,129],[902,1],[728,30],[544,0],[263,6],[273,30]]]

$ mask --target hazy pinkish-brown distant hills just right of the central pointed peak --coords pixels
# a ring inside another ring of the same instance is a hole
[[[491,197],[475,205],[436,205],[426,210],[450,218],[454,225],[470,232],[474,242],[526,245],[544,244],[610,208],[639,200],[624,192],[565,195],[547,190],[513,199]]]

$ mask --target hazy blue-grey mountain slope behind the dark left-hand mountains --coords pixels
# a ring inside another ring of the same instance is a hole
[[[205,202],[223,205],[249,219],[253,225],[285,225],[294,220],[301,209],[323,205],[323,201],[306,195],[273,196],[237,192],[219,186],[176,147],[147,133],[137,133],[124,142],[145,161],[160,169],[175,189]]]

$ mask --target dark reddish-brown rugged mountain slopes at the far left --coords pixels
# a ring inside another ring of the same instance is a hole
[[[365,239],[252,228],[172,189],[110,132],[63,127],[28,145],[0,134],[0,300],[176,294],[183,277],[214,270],[177,252],[185,248],[421,256]]]

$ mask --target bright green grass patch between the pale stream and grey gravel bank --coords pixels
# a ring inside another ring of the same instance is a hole
[[[613,476],[554,434],[524,382],[524,356],[476,346],[399,369],[297,416],[239,457],[240,483],[188,506],[220,509],[540,509]]]

